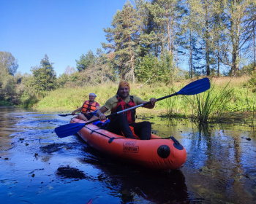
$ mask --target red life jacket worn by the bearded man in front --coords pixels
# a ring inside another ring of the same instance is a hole
[[[123,99],[121,99],[118,95],[116,95],[116,98],[118,100],[118,103],[116,107],[111,110],[111,114],[136,106],[135,102],[133,101],[133,95],[129,96],[131,101],[129,101],[128,103],[125,103]],[[125,114],[125,116],[127,117],[129,124],[132,122],[135,122],[135,114],[136,114],[135,109],[130,111],[125,111],[123,114]]]

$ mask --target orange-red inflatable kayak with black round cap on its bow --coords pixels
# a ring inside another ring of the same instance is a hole
[[[76,122],[85,123],[77,118],[70,121]],[[174,170],[187,159],[186,149],[173,137],[167,139],[152,134],[150,140],[125,138],[91,124],[83,127],[78,135],[100,152],[146,168]]]

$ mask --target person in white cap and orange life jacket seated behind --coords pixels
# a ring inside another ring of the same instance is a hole
[[[89,94],[89,100],[85,101],[83,103],[83,106],[81,106],[78,109],[75,109],[75,111],[72,111],[72,115],[75,114],[75,112],[82,111],[81,114],[78,114],[79,119],[83,119],[85,121],[98,119],[98,117],[95,116],[95,111],[99,109],[99,103],[95,101],[95,98],[97,95],[95,93]]]

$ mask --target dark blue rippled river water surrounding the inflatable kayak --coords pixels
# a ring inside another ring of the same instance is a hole
[[[179,170],[120,163],[54,128],[71,116],[0,107],[0,203],[256,203],[256,138],[246,122],[198,127],[142,117],[187,149]]]

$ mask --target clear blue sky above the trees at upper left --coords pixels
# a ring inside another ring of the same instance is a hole
[[[106,42],[103,28],[127,0],[0,0],[0,51],[11,52],[21,74],[45,54],[57,73]]]

